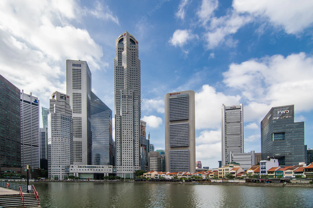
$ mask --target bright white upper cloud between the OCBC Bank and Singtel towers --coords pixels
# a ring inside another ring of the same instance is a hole
[[[195,93],[196,129],[220,128],[223,103],[225,105],[239,104],[240,96],[225,95],[217,92],[212,86],[203,85],[201,91]]]

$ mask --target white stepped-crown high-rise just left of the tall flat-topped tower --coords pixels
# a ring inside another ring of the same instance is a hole
[[[53,92],[48,114],[48,177],[63,180],[73,164],[72,110],[69,96]]]

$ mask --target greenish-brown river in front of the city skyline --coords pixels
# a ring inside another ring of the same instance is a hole
[[[43,208],[313,207],[307,187],[162,183],[34,183]]]

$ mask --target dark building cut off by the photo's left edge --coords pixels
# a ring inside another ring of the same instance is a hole
[[[21,167],[20,90],[0,75],[1,167]]]

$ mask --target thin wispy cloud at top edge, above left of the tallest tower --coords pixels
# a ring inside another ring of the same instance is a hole
[[[108,6],[103,6],[99,1],[95,2],[95,8],[94,10],[87,9],[87,13],[90,13],[91,15],[95,16],[98,19],[104,19],[104,20],[112,20],[113,22],[118,23],[118,17],[113,15],[113,12],[109,9]]]

